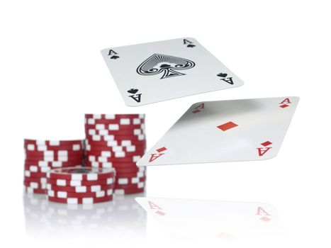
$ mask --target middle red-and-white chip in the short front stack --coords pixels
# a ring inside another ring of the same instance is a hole
[[[91,185],[91,186],[57,186],[53,184],[47,184],[47,190],[52,191],[64,191],[64,192],[73,192],[73,193],[88,193],[96,191],[108,191],[113,189],[115,184],[106,184],[106,185]]]

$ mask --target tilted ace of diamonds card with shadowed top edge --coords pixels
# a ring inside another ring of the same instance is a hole
[[[139,166],[271,159],[299,98],[258,98],[193,104],[139,161]]]

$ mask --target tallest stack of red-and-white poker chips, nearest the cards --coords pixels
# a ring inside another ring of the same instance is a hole
[[[145,115],[85,115],[86,166],[115,168],[116,194],[141,193],[145,167],[136,162],[146,149]]]

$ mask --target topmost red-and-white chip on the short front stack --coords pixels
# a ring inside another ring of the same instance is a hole
[[[47,173],[49,179],[64,179],[73,181],[100,181],[115,177],[114,169],[91,167],[67,167],[52,169]]]

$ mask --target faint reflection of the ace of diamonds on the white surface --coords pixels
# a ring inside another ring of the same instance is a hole
[[[135,200],[174,237],[235,239],[282,231],[276,208],[266,203],[143,197]]]

